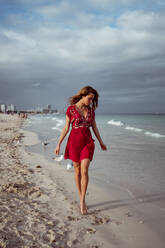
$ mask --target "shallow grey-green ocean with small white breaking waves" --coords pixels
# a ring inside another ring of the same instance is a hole
[[[130,197],[165,193],[165,115],[96,114],[96,123],[108,150],[95,139],[95,154],[89,167],[90,180],[108,192],[113,185]],[[54,161],[54,149],[65,124],[65,115],[31,115],[25,129],[38,134],[41,143],[30,151]],[[42,142],[47,140],[44,148]],[[64,153],[67,137],[62,146]],[[63,160],[61,166],[66,166]],[[165,211],[165,201],[157,201]]]

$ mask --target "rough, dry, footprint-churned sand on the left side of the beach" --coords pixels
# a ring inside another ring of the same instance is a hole
[[[77,201],[65,190],[65,173],[26,151],[38,140],[21,124],[16,116],[0,116],[0,247],[100,247],[89,217],[80,215]]]

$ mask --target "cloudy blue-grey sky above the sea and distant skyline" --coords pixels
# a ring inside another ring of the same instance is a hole
[[[165,112],[165,1],[0,0],[0,103],[63,109],[85,85],[100,112]]]

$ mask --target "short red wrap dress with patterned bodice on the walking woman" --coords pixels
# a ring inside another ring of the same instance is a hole
[[[92,160],[95,144],[90,126],[95,118],[94,109],[89,107],[87,116],[84,117],[76,105],[71,105],[67,108],[66,114],[72,123],[72,130],[67,141],[64,158],[79,163],[85,158]]]

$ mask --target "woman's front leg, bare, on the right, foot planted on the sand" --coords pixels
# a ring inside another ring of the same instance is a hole
[[[90,159],[83,159],[81,161],[81,198],[80,198],[80,209],[82,214],[87,213],[87,207],[85,204],[85,195],[88,187],[88,168],[90,164]]]

